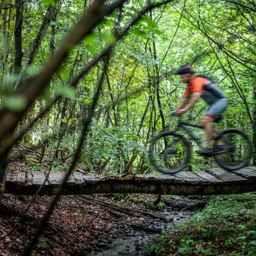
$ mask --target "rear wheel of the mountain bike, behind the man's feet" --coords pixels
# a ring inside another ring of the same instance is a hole
[[[253,153],[249,137],[241,130],[224,130],[214,140],[213,148],[218,145],[222,145],[224,149],[214,155],[214,159],[220,167],[227,171],[235,171],[245,167]]]

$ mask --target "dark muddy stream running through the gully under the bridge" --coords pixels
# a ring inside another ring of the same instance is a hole
[[[165,220],[149,220],[148,218],[140,218],[140,226],[132,227],[123,224],[122,232],[116,235],[110,235],[108,239],[98,243],[97,247],[91,251],[82,253],[88,256],[120,256],[120,255],[148,255],[144,249],[144,245],[149,243],[151,239],[161,234],[163,230],[170,230],[177,224],[185,222],[192,215],[196,214],[200,208],[204,206],[204,202],[198,199],[188,199],[178,197],[173,206],[165,206],[163,210],[155,210],[155,214],[165,217]]]

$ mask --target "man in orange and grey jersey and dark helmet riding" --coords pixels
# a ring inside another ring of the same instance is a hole
[[[222,146],[216,146],[212,149],[212,140],[216,138],[212,128],[212,122],[216,120],[228,106],[226,96],[214,81],[206,75],[194,75],[194,69],[191,65],[181,65],[175,74],[180,75],[181,82],[187,83],[183,101],[173,113],[181,115],[190,110],[197,101],[202,98],[208,105],[208,110],[202,118],[201,125],[206,134],[206,148],[196,151],[202,155],[210,155],[222,151]]]

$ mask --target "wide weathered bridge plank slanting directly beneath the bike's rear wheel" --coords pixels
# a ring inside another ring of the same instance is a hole
[[[207,169],[207,173],[210,173],[214,177],[224,181],[225,183],[250,183],[249,179],[235,175],[235,173],[224,171],[220,168],[216,169]]]

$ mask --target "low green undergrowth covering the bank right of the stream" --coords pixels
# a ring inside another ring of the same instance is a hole
[[[150,255],[256,255],[256,193],[211,196],[204,210],[146,249]]]

